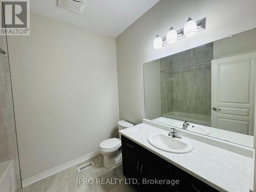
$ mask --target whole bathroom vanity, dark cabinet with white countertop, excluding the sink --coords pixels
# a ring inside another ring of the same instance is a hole
[[[178,131],[193,145],[193,150],[183,154],[169,153],[152,146],[148,135],[168,135],[172,127],[149,120],[143,122],[119,132],[122,135],[123,175],[136,179],[138,183],[134,186],[139,191],[246,192],[251,188],[252,149],[226,141],[221,141],[221,145],[220,140],[214,139],[208,142],[205,136]],[[150,184],[155,180],[170,180],[175,185]]]

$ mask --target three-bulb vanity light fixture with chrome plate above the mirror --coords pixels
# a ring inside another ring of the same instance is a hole
[[[161,49],[163,46],[173,44],[175,41],[180,40],[184,37],[193,36],[195,35],[195,33],[204,30],[205,26],[206,18],[203,18],[198,22],[195,22],[195,20],[189,17],[183,29],[175,30],[173,27],[171,27],[165,37],[162,38],[159,35],[157,35],[154,39],[154,48]],[[177,37],[175,32],[177,33]]]

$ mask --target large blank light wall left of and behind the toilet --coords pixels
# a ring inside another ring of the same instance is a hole
[[[23,180],[117,136],[114,38],[32,13],[8,45]]]

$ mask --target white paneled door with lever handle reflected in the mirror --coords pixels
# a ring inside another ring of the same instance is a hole
[[[211,127],[253,135],[256,52],[211,61]]]

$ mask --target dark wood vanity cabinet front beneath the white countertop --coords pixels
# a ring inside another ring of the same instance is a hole
[[[121,140],[123,175],[138,191],[218,191],[130,139]]]

